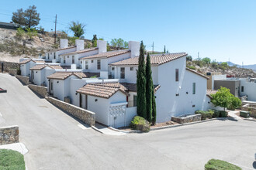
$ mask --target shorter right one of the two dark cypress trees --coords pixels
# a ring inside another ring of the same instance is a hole
[[[147,121],[152,121],[152,90],[153,80],[152,80],[152,71],[150,66],[150,55],[147,53],[147,63],[146,63],[146,99],[147,99]]]

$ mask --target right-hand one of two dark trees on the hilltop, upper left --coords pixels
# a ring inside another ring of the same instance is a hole
[[[26,27],[31,28],[37,26],[40,22],[40,13],[37,13],[36,6],[29,6],[24,12],[24,17],[26,21]]]

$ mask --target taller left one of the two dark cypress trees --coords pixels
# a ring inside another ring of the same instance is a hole
[[[140,42],[139,66],[137,70],[137,114],[147,119],[146,78],[144,44]]]

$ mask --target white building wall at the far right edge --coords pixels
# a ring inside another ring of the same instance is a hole
[[[244,92],[241,88],[244,87]],[[247,79],[240,79],[240,96],[247,95],[247,100],[256,101],[256,83],[249,82]]]

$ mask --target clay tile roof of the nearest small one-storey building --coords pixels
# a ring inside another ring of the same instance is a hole
[[[112,95],[120,90],[122,93],[126,94],[126,96],[129,96],[129,93],[126,93],[126,91],[118,87],[118,84],[119,83],[88,83],[78,89],[77,92],[109,99],[109,97],[112,97]]]

